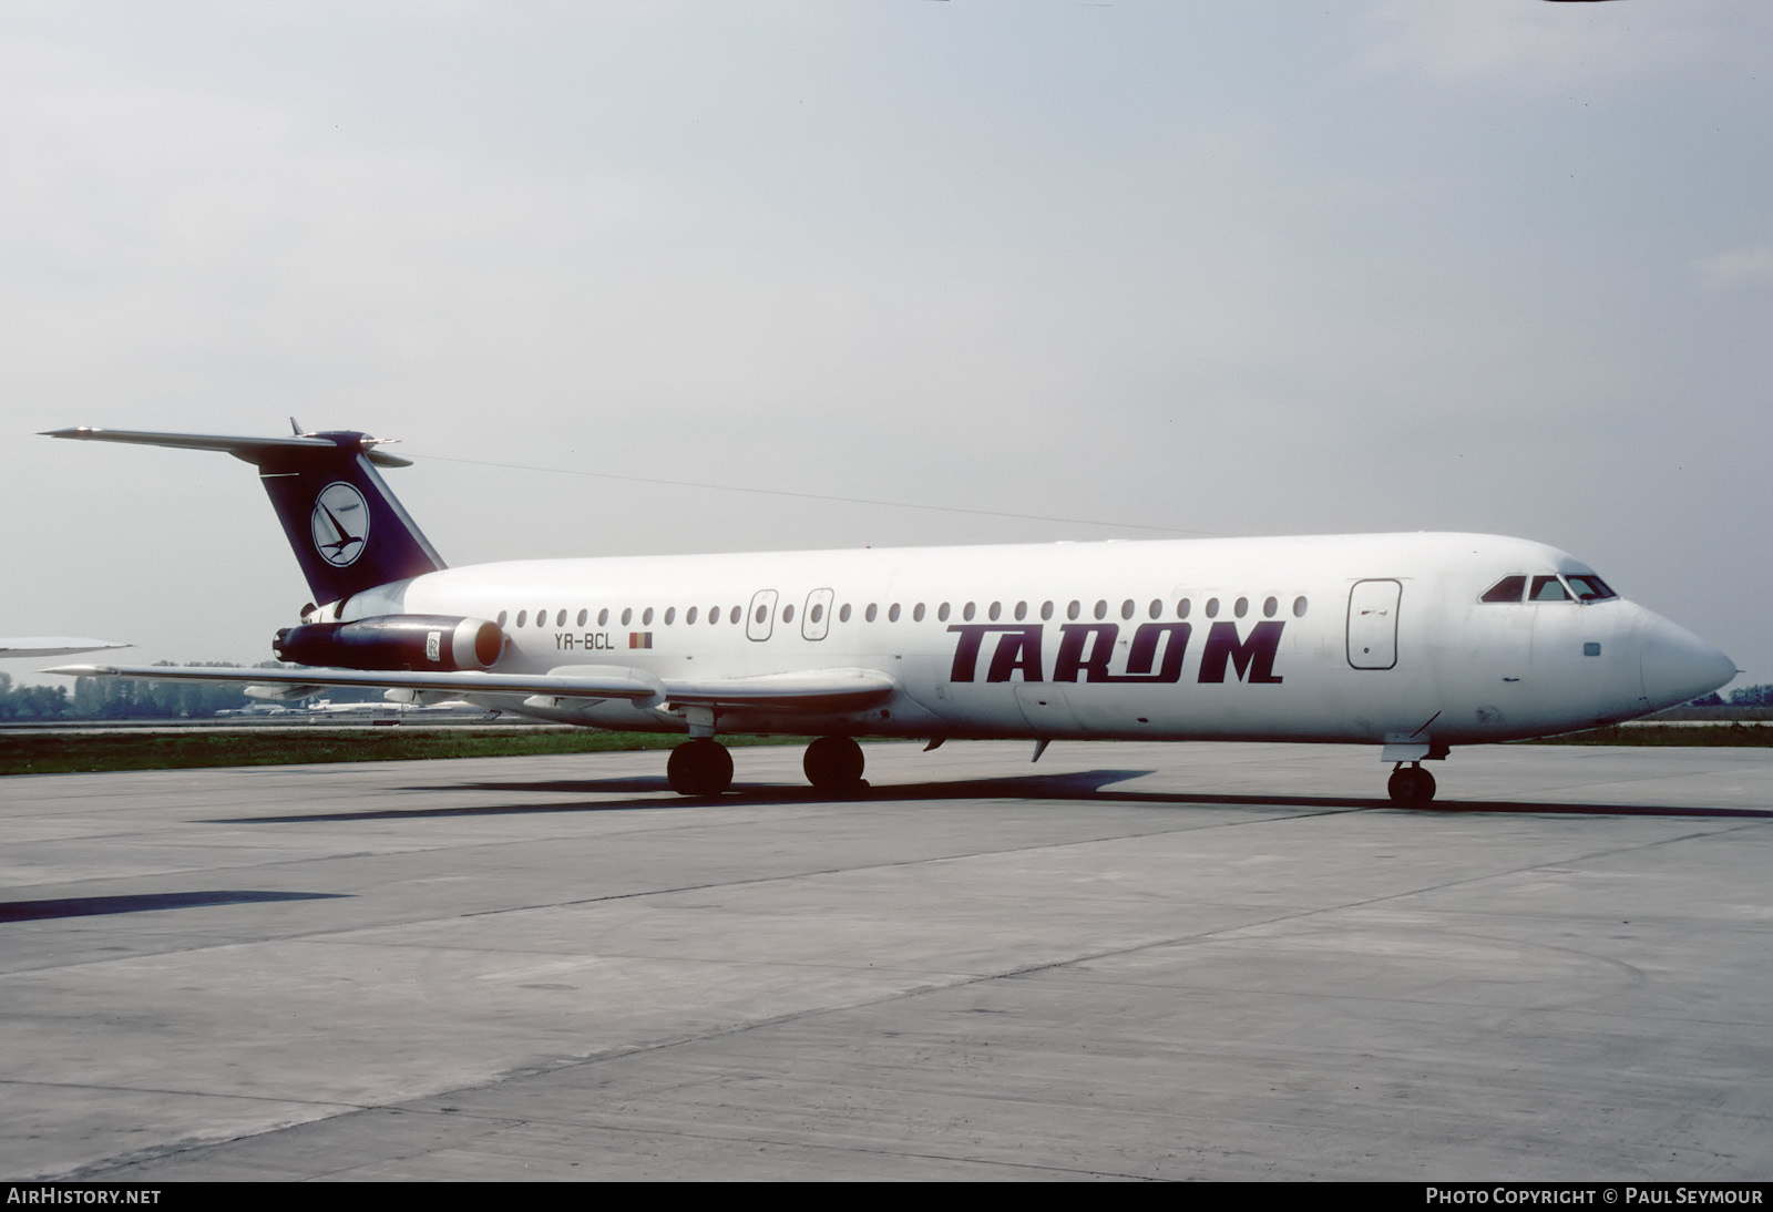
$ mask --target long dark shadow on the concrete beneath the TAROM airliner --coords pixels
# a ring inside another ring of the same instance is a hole
[[[1537,801],[1482,801],[1438,799],[1427,808],[1397,808],[1390,799],[1369,796],[1229,796],[1207,792],[1140,792],[1113,790],[1113,783],[1152,774],[1154,771],[1097,769],[1053,774],[1019,774],[1012,778],[945,780],[929,783],[901,783],[867,787],[849,796],[832,796],[812,787],[754,787],[738,785],[723,796],[681,797],[670,794],[663,776],[612,780],[498,780],[477,783],[434,783],[404,787],[410,792],[480,790],[502,796],[541,794],[628,794],[624,799],[585,799],[574,803],[498,803],[465,804],[459,808],[371,808],[363,812],[287,813],[277,817],[227,817],[209,824],[301,824],[339,820],[404,820],[426,817],[496,817],[512,813],[553,812],[663,812],[707,810],[773,804],[828,804],[828,803],[917,803],[938,799],[1062,799],[1099,804],[1165,804],[1293,808],[1317,812],[1392,810],[1413,813],[1578,813],[1601,817],[1773,817],[1764,808],[1674,808],[1645,804],[1605,803],[1537,803]]]

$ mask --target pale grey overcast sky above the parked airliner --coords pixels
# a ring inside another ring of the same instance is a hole
[[[32,434],[294,415],[450,563],[1479,530],[1773,680],[1769,103],[1766,0],[7,0],[0,634],[268,657],[250,468]]]

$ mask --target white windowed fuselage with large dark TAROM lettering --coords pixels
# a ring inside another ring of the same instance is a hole
[[[429,572],[312,618],[489,618],[500,673],[895,682],[865,711],[720,712],[722,732],[801,735],[1447,746],[1628,719],[1734,675],[1621,597],[1480,601],[1514,574],[1592,571],[1461,533],[535,560]],[[688,726],[668,700],[477,702]]]

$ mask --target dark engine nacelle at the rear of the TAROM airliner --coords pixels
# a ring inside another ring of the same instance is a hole
[[[342,670],[489,670],[505,633],[486,618],[379,615],[344,624],[284,627],[271,640],[278,661]]]

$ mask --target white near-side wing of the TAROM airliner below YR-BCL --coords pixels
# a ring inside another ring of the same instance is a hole
[[[631,698],[695,707],[775,707],[851,711],[888,698],[897,682],[876,670],[807,670],[707,680],[656,679],[613,664],[566,664],[548,673],[410,673],[404,670],[218,670],[181,664],[64,664],[46,673],[124,677],[149,682],[234,682],[239,686],[371,686],[452,695],[550,695]]]

